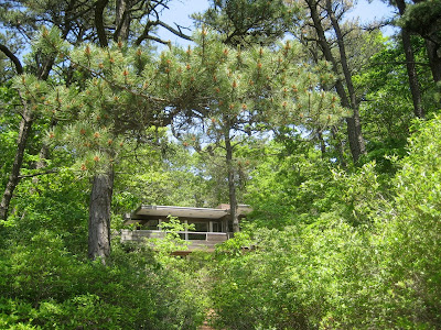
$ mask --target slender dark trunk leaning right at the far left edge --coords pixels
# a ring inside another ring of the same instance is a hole
[[[26,147],[28,138],[32,129],[32,112],[29,109],[28,103],[24,99],[22,99],[22,103],[23,103],[23,113],[22,113],[22,120],[20,122],[19,138],[17,139],[17,152],[12,164],[11,174],[9,175],[8,184],[0,202],[1,220],[7,220],[9,205],[11,202],[12,195],[20,180],[19,176],[20,176],[21,165],[23,163],[24,150]]]

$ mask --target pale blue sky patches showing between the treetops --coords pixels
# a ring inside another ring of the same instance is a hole
[[[203,12],[208,8],[208,0],[174,0],[171,1],[170,10],[163,12],[161,18],[168,24],[174,26],[178,23],[182,26],[193,28],[190,15],[194,12]],[[380,0],[358,0],[354,10],[349,12],[348,18],[358,16],[362,23],[373,22],[383,18],[390,18],[394,15],[391,7],[386,6]],[[386,28],[383,30],[385,34],[391,34],[392,29]],[[164,40],[170,40],[172,44],[187,45],[184,40],[176,37],[172,33],[162,29],[160,35]]]

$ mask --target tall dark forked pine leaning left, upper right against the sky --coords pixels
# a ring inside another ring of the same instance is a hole
[[[330,62],[333,73],[340,77],[335,80],[333,88],[338,94],[342,106],[352,111],[345,121],[352,160],[357,163],[359,157],[366,153],[366,146],[359,116],[361,97],[354,88],[352,78],[355,61],[351,56],[349,45],[353,40],[358,38],[357,34],[361,34],[362,29],[357,24],[343,23],[344,14],[353,7],[353,2],[304,0],[292,1],[292,3],[295,8],[299,4],[302,6],[300,14],[294,16],[302,24],[294,26],[294,33],[312,48],[311,53],[314,59],[324,58]],[[353,57],[361,58],[361,51],[355,51]],[[363,56],[365,55],[363,54]]]

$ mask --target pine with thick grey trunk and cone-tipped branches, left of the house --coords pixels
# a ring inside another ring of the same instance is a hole
[[[168,75],[158,70],[149,54],[123,48],[121,43],[109,50],[87,44],[71,53],[56,30],[43,30],[39,45],[43,52],[61,53],[85,74],[84,90],[76,84],[69,88],[44,86],[31,76],[23,77],[18,88],[28,90],[29,102],[35,103],[37,97],[35,107],[43,113],[72,123],[55,127],[47,133],[47,141],[56,139],[68,145],[79,156],[77,170],[96,174],[89,211],[89,255],[105,257],[110,248],[112,164],[119,158],[125,134],[142,135],[151,125],[169,123],[173,114],[164,112],[164,108],[181,106],[186,90],[165,88]]]

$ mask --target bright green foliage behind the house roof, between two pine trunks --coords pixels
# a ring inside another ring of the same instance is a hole
[[[152,143],[126,143],[125,156],[116,172],[114,212],[130,212],[139,205],[217,206],[207,202],[216,189],[207,187],[197,154],[164,136],[151,138]],[[135,161],[133,161],[135,160]],[[120,220],[120,219],[119,219]]]

